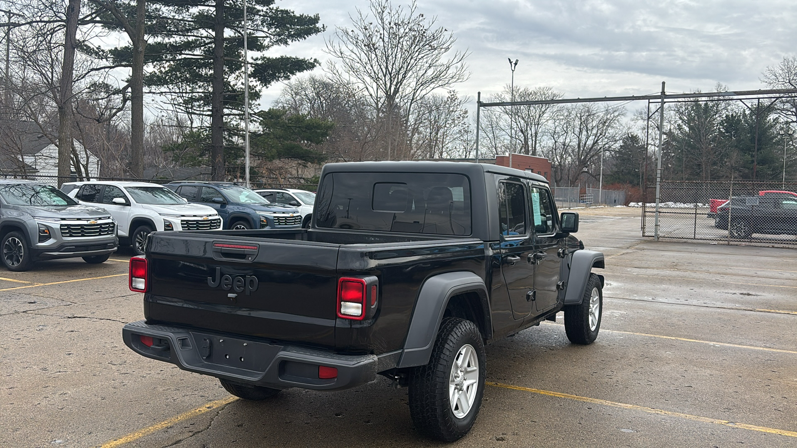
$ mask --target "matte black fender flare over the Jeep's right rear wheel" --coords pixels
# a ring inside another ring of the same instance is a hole
[[[410,330],[404,340],[404,349],[396,367],[414,367],[429,363],[434,340],[440,329],[443,313],[451,297],[461,293],[477,293],[485,312],[485,332],[492,333],[489,313],[489,294],[485,281],[475,273],[462,271],[442,273],[424,281],[415,309],[410,319]]]

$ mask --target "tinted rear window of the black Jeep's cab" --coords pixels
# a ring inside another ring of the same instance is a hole
[[[414,234],[469,235],[464,175],[331,173],[324,176],[317,226]]]

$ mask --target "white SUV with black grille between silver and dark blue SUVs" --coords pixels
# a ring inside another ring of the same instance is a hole
[[[210,206],[190,204],[174,191],[146,182],[70,182],[61,186],[78,202],[100,206],[116,220],[120,245],[142,255],[155,230],[214,230],[222,218]]]

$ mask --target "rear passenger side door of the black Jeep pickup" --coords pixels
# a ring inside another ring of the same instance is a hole
[[[501,223],[501,274],[512,304],[512,317],[523,319],[535,301],[531,233],[528,229],[528,195],[523,183],[498,184]]]

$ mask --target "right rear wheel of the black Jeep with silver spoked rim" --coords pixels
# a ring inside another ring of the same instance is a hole
[[[415,430],[453,442],[468,434],[485,391],[485,346],[476,324],[448,317],[440,324],[429,364],[410,371]]]

